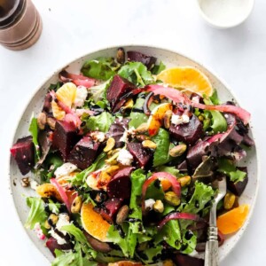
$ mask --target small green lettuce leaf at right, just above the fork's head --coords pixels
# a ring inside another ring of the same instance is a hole
[[[218,171],[230,177],[231,182],[237,183],[244,181],[246,172],[240,171],[233,160],[227,158],[218,159]]]

